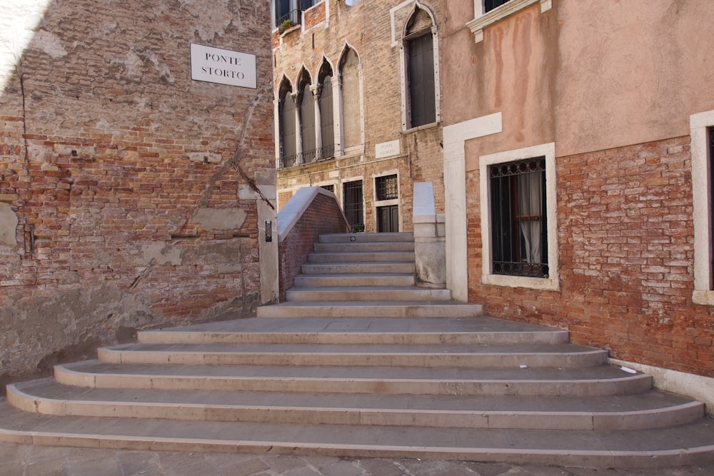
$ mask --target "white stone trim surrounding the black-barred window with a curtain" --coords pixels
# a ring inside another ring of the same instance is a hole
[[[519,161],[526,158],[545,157],[545,207],[548,234],[548,277],[496,275],[491,272],[491,181],[488,167],[496,163]],[[555,143],[521,148],[515,151],[493,153],[478,158],[478,174],[481,200],[481,243],[482,274],[481,283],[508,286],[511,288],[532,288],[539,290],[559,290],[558,276],[558,206],[555,193]]]

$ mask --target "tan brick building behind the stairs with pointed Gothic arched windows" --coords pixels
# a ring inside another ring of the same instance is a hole
[[[443,2],[271,3],[278,206],[323,186],[356,230],[411,231],[426,181],[443,213]]]

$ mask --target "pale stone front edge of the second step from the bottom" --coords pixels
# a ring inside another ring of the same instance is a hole
[[[704,416],[704,404],[694,401],[624,412],[539,412],[63,400],[37,397],[17,385],[8,385],[7,390],[8,402],[19,410],[41,415],[84,417],[524,430],[643,430],[682,425]]]

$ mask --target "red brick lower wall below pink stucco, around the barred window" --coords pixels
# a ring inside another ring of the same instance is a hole
[[[469,173],[469,300],[570,330],[610,356],[714,376],[714,311],[693,305],[690,138],[556,158],[560,291],[480,285],[478,172]]]

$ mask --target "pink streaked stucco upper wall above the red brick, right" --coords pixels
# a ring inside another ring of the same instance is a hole
[[[464,25],[473,2],[446,2],[445,125],[503,113],[476,153],[556,143],[570,155],[689,133],[714,108],[714,2],[553,1],[488,26]],[[467,163],[467,168],[475,164]]]

